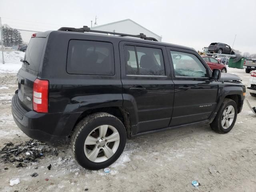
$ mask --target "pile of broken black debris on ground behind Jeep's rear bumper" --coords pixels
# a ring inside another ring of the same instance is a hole
[[[48,146],[44,142],[37,140],[29,140],[14,145],[12,142],[5,143],[0,150],[0,162],[3,163],[19,163],[16,167],[23,167],[26,163],[38,162],[45,154],[58,156],[58,149]]]

